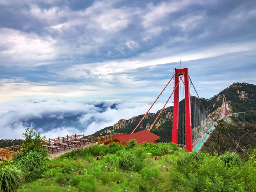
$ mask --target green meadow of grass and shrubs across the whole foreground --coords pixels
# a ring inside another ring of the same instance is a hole
[[[187,153],[172,143],[138,145],[133,140],[127,146],[78,148],[53,160],[39,151],[23,154],[19,163],[17,159],[1,163],[1,192],[17,187],[17,192],[256,190],[256,151],[245,162],[236,153],[218,157]]]

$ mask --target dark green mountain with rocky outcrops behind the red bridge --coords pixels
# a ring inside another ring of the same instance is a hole
[[[219,94],[209,98],[201,98],[207,112],[214,119],[218,118],[222,107],[223,97],[226,97],[229,104],[228,114],[239,113],[238,117],[230,116],[231,122],[247,121],[256,122],[256,85],[247,83],[234,83],[221,91]],[[180,102],[182,104],[182,102]],[[155,121],[160,111],[149,113],[142,121],[135,132],[140,130],[148,130]],[[132,117],[130,119],[120,119],[116,124],[101,129],[93,134],[93,136],[101,136],[110,133],[131,133],[140,122],[144,114]],[[161,142],[171,142],[172,137],[172,119],[173,107],[167,107],[161,113],[158,121],[151,130],[152,133],[161,137]]]

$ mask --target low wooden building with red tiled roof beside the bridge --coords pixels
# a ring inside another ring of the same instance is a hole
[[[108,139],[102,143],[109,145],[111,142],[114,142],[117,144],[126,145],[130,139],[135,139],[138,144],[149,142],[156,143],[156,140],[160,139],[160,137],[154,133],[148,132],[147,130],[142,130],[129,135],[116,133],[112,139]]]

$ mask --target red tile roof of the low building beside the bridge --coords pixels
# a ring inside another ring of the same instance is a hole
[[[138,144],[148,143],[148,142],[152,142],[154,140],[160,139],[158,135],[155,135],[154,133],[150,133],[147,130],[142,130],[130,135],[123,135],[123,134],[117,133],[116,135],[114,135],[113,138],[118,138],[119,140],[122,140],[125,143],[127,143],[130,139],[135,139],[138,142]]]

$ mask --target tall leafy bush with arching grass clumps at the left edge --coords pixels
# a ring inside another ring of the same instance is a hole
[[[42,147],[44,137],[27,128],[23,149],[14,159],[0,162],[0,192],[15,191],[24,181],[41,177],[47,170],[48,152]]]

